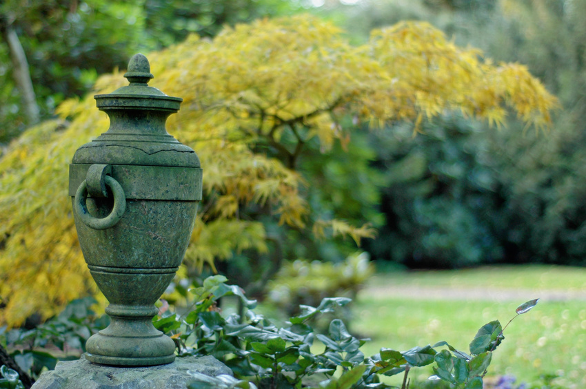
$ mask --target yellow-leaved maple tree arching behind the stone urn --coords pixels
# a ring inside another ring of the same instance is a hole
[[[373,235],[367,224],[310,217],[298,166],[310,140],[327,153],[335,142],[347,145],[358,122],[412,120],[416,131],[421,120],[449,110],[497,125],[514,111],[544,127],[556,105],[523,65],[494,64],[427,23],[376,30],[353,46],[315,17],[263,20],[212,41],[190,36],[148,58],[150,85],[183,98],[170,133],[204,169],[204,200],[185,256],[191,269],[242,250],[269,251],[266,220],[322,238]],[[102,76],[94,92],[121,87],[122,74]],[[65,101],[59,114],[28,130],[0,161],[0,325],[19,325],[34,312],[48,317],[95,292],[77,244],[68,164],[108,118],[91,95]]]

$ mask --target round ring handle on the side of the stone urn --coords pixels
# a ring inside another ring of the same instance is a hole
[[[75,193],[75,200],[73,202],[74,210],[79,219],[90,227],[90,229],[103,230],[114,227],[120,221],[126,210],[126,195],[119,182],[110,176],[105,176],[104,182],[106,186],[110,187],[112,194],[114,194],[114,207],[112,207],[110,215],[105,218],[94,218],[90,215],[88,207],[85,204],[85,201],[88,199],[88,186],[85,180],[81,182]]]

